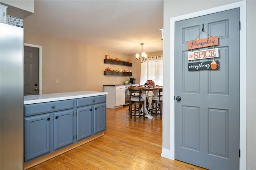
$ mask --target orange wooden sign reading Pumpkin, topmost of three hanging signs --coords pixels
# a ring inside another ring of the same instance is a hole
[[[196,48],[203,48],[203,47],[210,47],[213,45],[218,45],[218,36],[204,38],[200,40],[193,40],[187,43],[188,49],[196,49]]]

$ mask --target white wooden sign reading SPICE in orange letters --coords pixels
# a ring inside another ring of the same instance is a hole
[[[206,58],[214,58],[214,57],[219,57],[218,48],[188,52],[188,60],[206,59]]]

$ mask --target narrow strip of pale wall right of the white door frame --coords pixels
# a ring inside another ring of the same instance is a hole
[[[256,170],[256,0],[247,1],[247,169]]]

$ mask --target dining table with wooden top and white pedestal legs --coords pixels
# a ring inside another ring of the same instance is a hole
[[[155,85],[155,86],[143,86],[142,87],[142,98],[144,99],[144,111],[146,113],[145,117],[147,117],[148,119],[153,119],[152,115],[149,113],[147,107],[146,107],[146,104],[147,104],[147,98],[148,97],[154,97],[154,96],[157,96],[157,89],[158,87],[163,87],[163,86],[160,86],[160,85]],[[152,91],[153,92],[153,95],[149,95],[148,93]],[[149,107],[151,106],[151,100],[148,100],[148,103],[149,103]]]

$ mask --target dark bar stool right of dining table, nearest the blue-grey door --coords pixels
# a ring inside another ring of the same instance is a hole
[[[155,114],[155,115],[160,115],[160,119],[162,120],[162,115],[163,115],[163,88],[162,87],[158,87],[157,89],[158,91],[158,96],[157,97],[153,97],[152,98],[152,110],[151,113]],[[154,104],[156,105],[156,107],[154,107]]]

